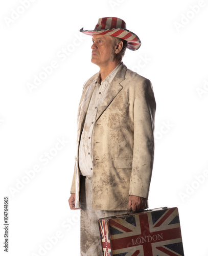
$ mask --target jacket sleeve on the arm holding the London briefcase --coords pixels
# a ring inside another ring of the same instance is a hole
[[[154,160],[154,116],[156,103],[150,80],[135,90],[134,144],[129,195],[148,198]]]

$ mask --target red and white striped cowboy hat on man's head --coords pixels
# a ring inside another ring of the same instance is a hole
[[[110,35],[127,41],[127,48],[135,51],[141,46],[140,38],[126,29],[124,20],[116,17],[99,18],[94,30],[83,30],[80,32],[86,35]]]

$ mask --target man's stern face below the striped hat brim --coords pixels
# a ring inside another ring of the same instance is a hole
[[[105,67],[112,61],[112,39],[108,35],[94,35],[93,45],[91,46],[91,62],[99,67]]]

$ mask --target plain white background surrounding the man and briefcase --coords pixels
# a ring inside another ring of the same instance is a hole
[[[10,255],[80,255],[67,200],[78,102],[99,69],[79,30],[115,16],[142,41],[123,61],[152,81],[157,102],[149,207],[177,206],[184,254],[207,256],[207,1],[28,1],[0,4],[1,253],[7,196]]]

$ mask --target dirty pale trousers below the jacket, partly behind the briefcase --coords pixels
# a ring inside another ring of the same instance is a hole
[[[110,199],[109,199],[110,200]],[[94,210],[93,178],[82,177],[80,190],[80,249],[81,256],[102,256],[102,246],[98,219],[109,216],[126,214],[126,210]]]

